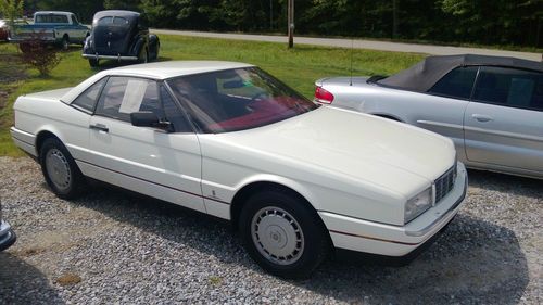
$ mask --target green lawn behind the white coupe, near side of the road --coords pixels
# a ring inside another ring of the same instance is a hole
[[[226,39],[194,38],[161,35],[161,61],[167,60],[222,60],[247,62],[261,66],[283,80],[307,98],[313,97],[314,81],[329,76],[387,75],[406,68],[422,59],[421,54],[350,50],[330,47],[298,45],[288,49],[286,43],[254,42]],[[25,72],[26,78],[14,82],[0,82],[0,92],[9,92],[7,104],[0,109],[0,155],[18,156],[22,152],[12,143],[9,128],[13,125],[13,102],[16,97],[73,87],[97,73],[80,56],[80,49],[62,53],[62,61],[48,77],[40,77],[35,69],[26,69],[12,59],[17,55],[15,46],[0,45],[0,74]],[[101,64],[100,69],[116,66]],[[0,96],[1,99],[1,96]]]

